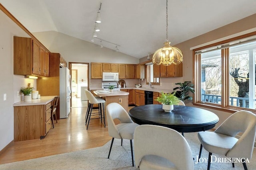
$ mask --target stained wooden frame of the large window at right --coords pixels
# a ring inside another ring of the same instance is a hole
[[[244,39],[246,37],[251,37],[256,35],[256,31],[252,33],[248,33],[245,35],[240,35],[238,37],[234,37],[231,39],[226,39],[224,41],[220,41],[217,43],[213,43],[210,45],[206,45],[204,47],[200,47],[197,49],[193,49],[193,82],[194,82],[194,88],[195,88],[195,94],[193,98],[193,105],[200,106],[200,107],[206,107],[210,109],[216,109],[220,111],[226,111],[230,113],[234,113],[238,110],[248,110],[253,113],[256,113],[256,109],[249,109],[245,107],[236,107],[236,106],[229,106],[229,48],[224,48],[221,50],[222,55],[222,86],[221,86],[221,96],[222,96],[222,102],[221,104],[214,104],[210,102],[200,102],[200,96],[201,96],[201,55],[196,54],[196,51],[200,51],[202,49],[208,49],[210,47],[223,45],[225,43],[230,43],[232,41],[237,41],[240,39]]]

